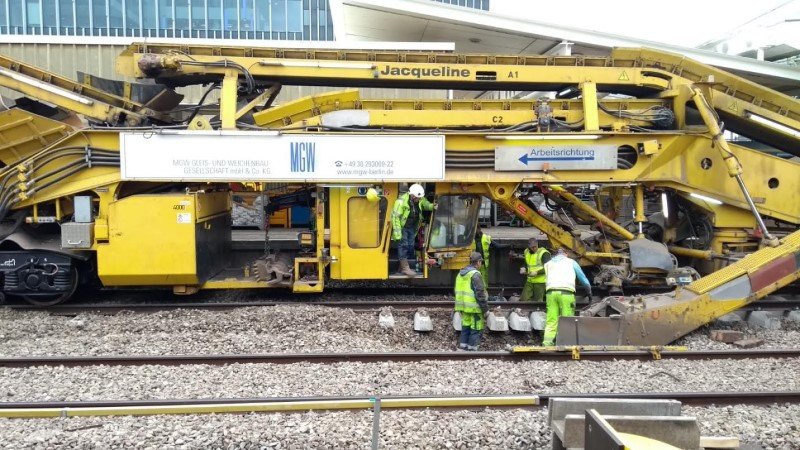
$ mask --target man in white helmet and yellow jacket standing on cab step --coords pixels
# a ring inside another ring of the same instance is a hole
[[[397,272],[407,277],[415,277],[417,273],[411,269],[410,262],[417,257],[414,251],[414,240],[420,226],[420,215],[423,210],[433,211],[434,205],[425,199],[425,188],[414,183],[408,192],[401,194],[392,207],[392,240],[397,244]],[[416,265],[416,264],[415,264]]]

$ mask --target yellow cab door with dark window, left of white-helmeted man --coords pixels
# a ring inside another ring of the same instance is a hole
[[[385,280],[389,275],[391,209],[397,185],[377,186],[382,195],[367,198],[373,186],[331,187],[331,278],[338,280]]]

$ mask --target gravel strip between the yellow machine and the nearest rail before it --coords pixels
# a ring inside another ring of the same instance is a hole
[[[136,355],[295,352],[443,351],[455,348],[450,311],[429,311],[434,330],[413,331],[413,311],[395,310],[395,325],[378,325],[377,311],[304,305],[243,307],[230,310],[178,309],[151,313],[83,312],[77,316],[47,311],[0,309],[0,355]],[[717,326],[715,326],[717,327]],[[800,342],[800,326],[785,321],[782,330],[741,328],[746,337],[764,339],[760,348],[787,348]],[[693,350],[730,349],[709,339],[703,327],[676,342]],[[525,345],[523,333],[485,333],[481,350]],[[541,342],[541,334],[534,334]]]

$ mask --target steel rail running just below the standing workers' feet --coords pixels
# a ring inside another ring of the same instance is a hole
[[[652,360],[652,359],[758,359],[758,358],[798,358],[800,349],[750,349],[750,350],[581,350],[572,348],[545,349],[521,347],[521,351],[480,351],[480,352],[391,352],[391,353],[265,353],[241,355],[109,355],[109,356],[33,356],[19,358],[0,358],[0,367],[39,367],[39,366],[179,366],[179,365],[226,365],[226,364],[335,364],[348,362],[415,362],[415,361],[608,361],[608,360]],[[655,352],[654,352],[655,350]]]

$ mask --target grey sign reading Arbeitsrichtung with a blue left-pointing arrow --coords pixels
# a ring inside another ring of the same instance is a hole
[[[500,145],[494,170],[614,170],[615,145]]]

